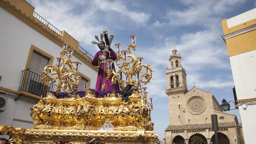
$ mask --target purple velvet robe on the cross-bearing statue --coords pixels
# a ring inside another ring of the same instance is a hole
[[[106,59],[113,59],[115,61],[116,60],[116,53],[111,48],[109,48],[109,51],[110,51],[110,57],[109,57],[109,53],[106,52],[106,55],[105,55]],[[99,66],[100,56],[102,55],[102,53],[103,53],[102,51],[99,51],[95,54],[95,56],[92,60],[92,65]],[[103,79],[105,81],[105,89],[104,90],[111,90],[111,91],[119,90],[119,85],[118,85],[117,82],[116,82],[116,84],[111,85],[112,75],[110,76],[109,79],[107,79],[107,73],[106,73],[106,71],[104,71],[104,67],[105,67],[105,69],[107,69],[107,63],[106,62],[100,64],[95,90],[102,90]],[[112,69],[113,68],[115,69],[114,62],[112,64]],[[103,76],[104,76],[104,78],[103,78]]]

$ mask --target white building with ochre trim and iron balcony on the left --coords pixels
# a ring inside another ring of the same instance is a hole
[[[92,55],[34,9],[25,0],[0,1],[0,125],[33,128],[30,107],[40,95],[54,90],[43,84],[39,74],[47,64],[57,63],[63,42],[75,49],[72,60],[82,63],[78,89],[82,90],[85,80],[91,88],[96,85],[98,68],[91,64]]]

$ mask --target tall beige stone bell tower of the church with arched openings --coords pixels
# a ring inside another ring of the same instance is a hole
[[[173,46],[170,56],[170,68],[166,67],[168,106],[169,106],[169,125],[179,125],[180,118],[185,111],[183,106],[183,96],[187,90],[186,71],[181,66],[181,55],[177,54]]]

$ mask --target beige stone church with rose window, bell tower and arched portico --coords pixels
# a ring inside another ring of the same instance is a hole
[[[197,87],[187,90],[186,71],[175,47],[169,61],[171,68],[166,68],[169,112],[166,144],[191,144],[195,137],[205,144],[215,144],[214,132],[211,131],[212,114],[218,116],[219,144],[243,144],[242,127],[235,115],[223,113],[210,91]]]

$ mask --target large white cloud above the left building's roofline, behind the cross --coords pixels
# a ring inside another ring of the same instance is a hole
[[[102,32],[104,27],[127,25],[127,19],[137,26],[144,25],[150,17],[145,12],[129,10],[119,1],[76,0],[42,1],[33,0],[35,11],[56,26],[65,30],[83,45],[91,45],[93,35]],[[84,7],[84,8],[83,8]]]

